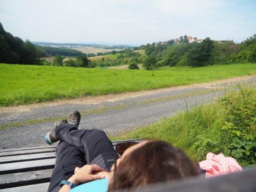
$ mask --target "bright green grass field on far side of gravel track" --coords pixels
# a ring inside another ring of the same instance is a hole
[[[0,106],[132,92],[256,74],[255,64],[154,71],[0,64]]]

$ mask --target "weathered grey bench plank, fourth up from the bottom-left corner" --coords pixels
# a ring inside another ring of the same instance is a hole
[[[55,152],[0,157],[0,164],[55,158]]]

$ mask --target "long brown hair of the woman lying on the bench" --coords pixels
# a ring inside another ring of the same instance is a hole
[[[179,148],[165,141],[148,141],[131,151],[114,169],[108,191],[198,175],[196,164]]]

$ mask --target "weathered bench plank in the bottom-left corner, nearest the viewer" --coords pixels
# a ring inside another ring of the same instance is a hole
[[[50,183],[39,183],[35,185],[21,186],[21,187],[12,187],[7,189],[0,189],[0,192],[45,192],[47,191]]]

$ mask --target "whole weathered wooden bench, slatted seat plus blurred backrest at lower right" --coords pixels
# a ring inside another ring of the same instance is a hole
[[[113,141],[117,143],[136,140]],[[0,192],[45,192],[55,165],[55,147],[33,147],[0,150]],[[204,179],[166,182],[135,191],[256,191],[256,167],[242,172]]]

